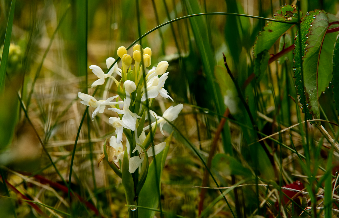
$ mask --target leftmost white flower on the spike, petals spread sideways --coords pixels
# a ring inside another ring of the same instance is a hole
[[[110,97],[107,100],[99,100],[99,101],[97,101],[93,96],[82,93],[82,92],[78,92],[78,96],[80,99],[82,99],[82,101],[80,102],[81,104],[96,108],[92,114],[93,120],[94,120],[94,117],[98,113],[104,112],[106,105],[116,105],[116,104],[122,103],[122,102],[111,102],[117,97],[119,97],[119,95]]]

